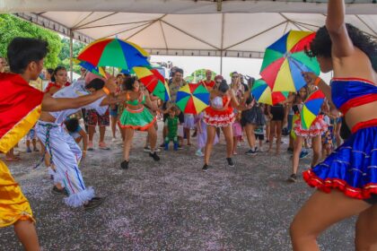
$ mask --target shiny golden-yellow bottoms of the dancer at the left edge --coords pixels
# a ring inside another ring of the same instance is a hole
[[[0,160],[0,227],[13,225],[20,220],[34,221],[31,205],[9,169]]]

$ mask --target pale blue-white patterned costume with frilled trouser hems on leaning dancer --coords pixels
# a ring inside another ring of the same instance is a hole
[[[91,92],[84,88],[84,82],[78,81],[74,84],[57,91],[54,98],[77,98],[88,95]],[[104,98],[95,100],[91,104],[85,106],[86,109],[95,109],[99,114],[104,114],[108,107],[101,107],[101,101]],[[56,118],[54,123],[40,121],[36,125],[36,131],[39,140],[45,145],[46,150],[50,154],[51,163],[54,164],[53,170],[54,183],[65,186],[69,194],[65,198],[65,203],[72,207],[78,207],[91,200],[94,197],[92,187],[85,187],[83,177],[78,168],[82,158],[82,151],[70,136],[63,122],[66,117],[76,113],[81,108],[72,108],[62,111],[50,112]]]

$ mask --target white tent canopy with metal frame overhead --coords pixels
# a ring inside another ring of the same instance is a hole
[[[317,30],[325,1],[9,0],[0,12],[90,42],[117,36],[153,55],[262,57],[287,30]],[[346,22],[377,38],[375,0],[347,4]]]

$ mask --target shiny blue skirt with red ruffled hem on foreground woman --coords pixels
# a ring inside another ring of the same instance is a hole
[[[359,123],[352,135],[328,158],[302,176],[325,193],[338,188],[356,199],[377,195],[377,119]]]

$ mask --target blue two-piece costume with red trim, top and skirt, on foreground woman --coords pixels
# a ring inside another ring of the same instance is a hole
[[[377,87],[360,79],[334,79],[331,95],[337,108],[349,108],[373,102]],[[310,186],[329,193],[338,188],[345,195],[368,202],[377,195],[377,118],[359,122],[352,135],[328,158],[303,172]],[[375,200],[373,201],[375,203]]]

